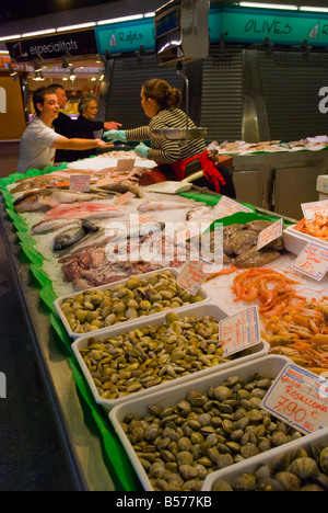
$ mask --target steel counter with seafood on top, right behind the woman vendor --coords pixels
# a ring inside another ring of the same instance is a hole
[[[327,140],[319,136],[291,142],[212,141],[209,149],[232,157],[239,202],[300,219],[301,204],[318,200],[317,176],[328,167]]]

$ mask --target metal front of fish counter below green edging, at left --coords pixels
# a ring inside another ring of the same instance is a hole
[[[84,403],[72,376],[71,354],[51,329],[50,310],[47,310],[45,304],[40,301],[39,286],[30,271],[31,262],[22,253],[2,198],[0,215],[1,231],[15,287],[77,490],[113,491],[122,489],[122,483],[117,480],[117,477],[114,475],[112,478],[110,476],[112,463],[107,460],[98,425],[93,419],[93,412]],[[105,422],[106,419],[103,418],[101,411],[94,413],[99,415],[98,422]],[[122,460],[129,471],[129,461],[125,460],[124,456]],[[133,487],[138,490],[137,479]]]

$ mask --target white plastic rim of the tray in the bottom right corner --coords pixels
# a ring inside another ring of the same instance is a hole
[[[236,477],[242,476],[244,472],[254,474],[259,465],[267,464],[270,467],[277,457],[288,453],[294,454],[295,451],[300,448],[307,449],[312,446],[328,446],[328,429],[316,431],[315,433],[303,436],[302,438],[290,442],[289,444],[281,445],[266,453],[261,453],[258,456],[254,456],[253,458],[232,465],[231,467],[212,472],[206,478],[202,491],[211,491],[218,479],[223,479],[232,486]]]

